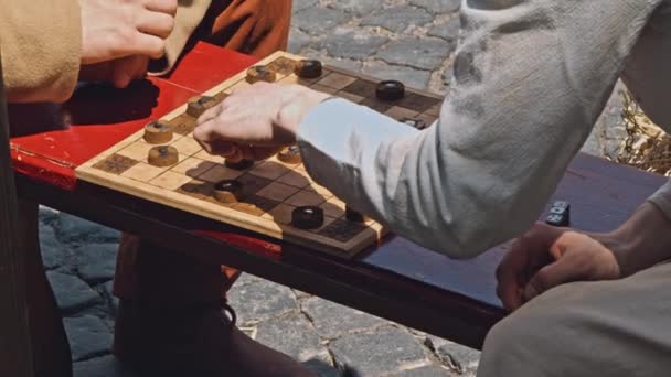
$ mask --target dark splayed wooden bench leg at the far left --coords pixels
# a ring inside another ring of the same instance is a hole
[[[19,234],[25,251],[28,308],[36,376],[72,376],[70,345],[54,293],[44,274],[38,238],[38,204],[19,201]]]

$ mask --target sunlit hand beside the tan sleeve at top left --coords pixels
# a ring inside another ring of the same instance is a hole
[[[178,0],[79,0],[82,64],[130,55],[159,58],[174,26]]]

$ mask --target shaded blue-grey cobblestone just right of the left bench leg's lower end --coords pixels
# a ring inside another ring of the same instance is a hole
[[[111,333],[103,320],[93,315],[63,319],[73,362],[108,354]]]

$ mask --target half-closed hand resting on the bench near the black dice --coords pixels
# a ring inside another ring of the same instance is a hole
[[[620,267],[607,235],[592,237],[568,228],[537,223],[518,238],[497,269],[497,294],[515,310],[548,289],[572,282],[613,280]]]

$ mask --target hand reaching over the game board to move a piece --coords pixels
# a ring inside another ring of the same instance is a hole
[[[205,111],[193,137],[212,154],[262,160],[295,143],[305,116],[328,97],[299,85],[257,83]]]

